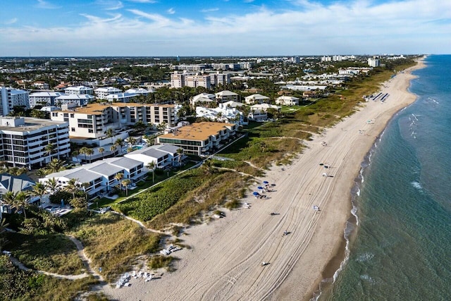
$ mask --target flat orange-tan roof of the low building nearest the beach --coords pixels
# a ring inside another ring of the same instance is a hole
[[[177,131],[166,135],[161,135],[159,138],[180,139],[180,140],[196,140],[204,141],[210,136],[216,135],[219,131],[226,128],[226,126],[233,126],[234,123],[221,122],[200,122],[192,123],[178,128]]]

